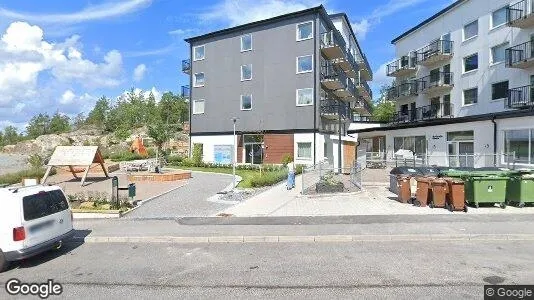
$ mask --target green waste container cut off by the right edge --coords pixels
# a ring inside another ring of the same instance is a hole
[[[506,186],[506,202],[518,207],[534,203],[534,174],[510,176]]]

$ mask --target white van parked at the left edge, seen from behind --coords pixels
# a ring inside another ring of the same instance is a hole
[[[73,233],[72,211],[61,188],[0,189],[0,272],[9,262],[61,247]]]

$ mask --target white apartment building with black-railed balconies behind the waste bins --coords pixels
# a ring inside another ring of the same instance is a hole
[[[405,149],[429,164],[481,166],[514,153],[532,166],[533,43],[534,0],[456,1],[392,41],[393,120],[350,133],[388,158]]]

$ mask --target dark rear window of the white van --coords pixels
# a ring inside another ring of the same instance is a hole
[[[69,208],[67,199],[59,190],[26,196],[22,198],[22,206],[26,221],[46,217]]]

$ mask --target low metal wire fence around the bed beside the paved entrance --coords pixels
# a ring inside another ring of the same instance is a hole
[[[311,195],[321,193],[317,189],[320,182],[342,184],[342,192],[359,191],[362,187],[362,165],[355,161],[351,167],[339,169],[328,161],[306,167],[302,170],[301,194]],[[341,191],[340,191],[341,192]]]

